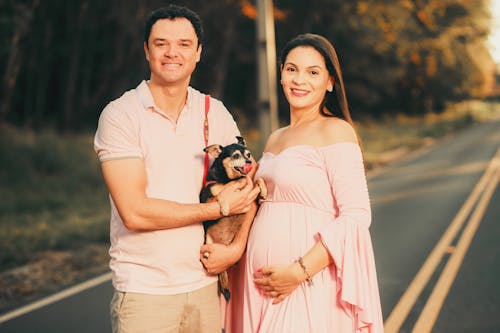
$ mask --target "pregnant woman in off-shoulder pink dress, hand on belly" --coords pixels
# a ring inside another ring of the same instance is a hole
[[[260,161],[269,194],[249,235],[233,330],[383,332],[363,159],[337,55],[324,37],[299,35],[280,70],[290,124]]]

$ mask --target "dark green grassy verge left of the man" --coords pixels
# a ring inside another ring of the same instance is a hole
[[[109,239],[109,201],[90,135],[2,128],[0,267],[41,249]]]

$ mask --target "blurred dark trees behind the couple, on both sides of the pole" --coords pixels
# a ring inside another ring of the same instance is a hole
[[[206,32],[192,85],[256,123],[255,3],[177,1]],[[143,22],[165,1],[0,0],[0,123],[94,129],[149,75]],[[277,50],[313,32],[335,45],[354,117],[440,111],[491,94],[488,0],[275,0]],[[280,114],[287,108],[280,100]]]

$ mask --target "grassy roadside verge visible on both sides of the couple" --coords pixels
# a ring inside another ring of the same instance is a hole
[[[495,108],[500,109],[498,104]],[[367,167],[498,117],[495,108],[468,102],[423,118],[364,119],[356,125]],[[256,146],[258,132],[243,132],[249,146]],[[92,134],[61,137],[48,130],[2,128],[0,165],[0,272],[26,263],[39,251],[108,242],[109,201]]]

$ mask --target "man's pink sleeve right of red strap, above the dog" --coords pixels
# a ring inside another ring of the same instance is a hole
[[[214,125],[214,130],[210,129],[210,135],[216,133],[217,137],[214,137],[213,141],[210,138],[210,143],[219,143],[226,146],[237,142],[236,137],[241,134],[233,116],[221,101],[212,98],[211,103],[213,110],[210,110],[209,115],[213,117],[211,124]]]

